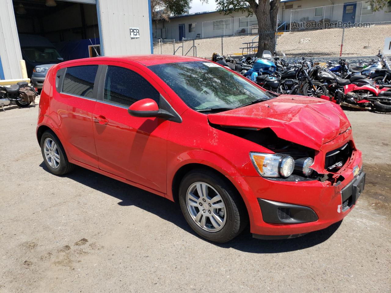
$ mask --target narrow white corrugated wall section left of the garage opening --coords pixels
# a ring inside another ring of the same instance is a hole
[[[22,54],[12,0],[1,0],[0,3],[0,57],[4,79],[20,79]]]

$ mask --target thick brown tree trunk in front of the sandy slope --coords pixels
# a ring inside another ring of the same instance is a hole
[[[270,52],[276,49],[277,13],[280,0],[249,1],[250,8],[258,21],[258,52],[256,57],[261,57],[264,50]]]

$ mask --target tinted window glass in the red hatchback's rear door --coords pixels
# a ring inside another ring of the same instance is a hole
[[[65,71],[63,93],[93,98],[93,88],[98,65],[68,67]]]

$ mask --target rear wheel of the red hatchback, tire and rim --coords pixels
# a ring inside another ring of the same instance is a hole
[[[41,152],[45,165],[55,175],[65,175],[74,169],[74,164],[68,162],[63,145],[51,130],[41,137]]]

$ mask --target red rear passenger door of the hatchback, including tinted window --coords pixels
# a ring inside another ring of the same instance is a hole
[[[50,117],[63,135],[68,155],[81,163],[98,168],[92,127],[92,111],[97,96],[99,66],[76,63],[57,71],[57,93],[50,100]],[[96,86],[94,86],[96,84]]]

